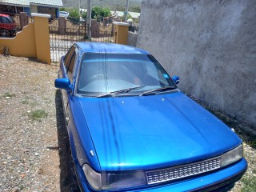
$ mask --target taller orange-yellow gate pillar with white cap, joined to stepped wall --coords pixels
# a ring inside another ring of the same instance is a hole
[[[34,17],[34,36],[39,61],[50,64],[50,14],[31,14]]]

